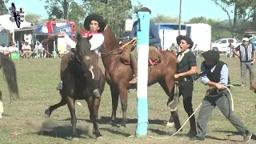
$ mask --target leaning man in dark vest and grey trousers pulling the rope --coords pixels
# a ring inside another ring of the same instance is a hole
[[[191,138],[192,141],[204,141],[206,134],[206,126],[210,114],[215,106],[222,114],[233,124],[240,134],[243,135],[243,141],[249,142],[252,134],[245,129],[243,123],[234,115],[230,104],[231,96],[225,86],[230,84],[229,69],[226,63],[219,61],[219,53],[215,50],[209,50],[202,53],[205,61],[201,65],[201,81],[203,84],[210,86],[206,90],[206,97],[202,101],[201,110],[198,114],[196,137]]]

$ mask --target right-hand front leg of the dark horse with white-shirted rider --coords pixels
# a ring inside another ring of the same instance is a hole
[[[98,114],[98,107],[100,103],[100,98],[93,98],[90,97],[86,100],[88,104],[88,108],[90,110],[90,120],[94,124],[94,134],[96,138],[102,137],[100,130],[98,129],[98,122],[97,122],[97,114]]]

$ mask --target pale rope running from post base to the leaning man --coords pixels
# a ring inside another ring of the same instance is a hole
[[[234,87],[233,85],[227,85],[227,86],[232,86],[232,87]],[[226,90],[228,90],[228,92],[229,92],[229,94],[230,94],[230,97],[231,97],[231,105],[232,105],[232,111],[234,111],[233,96],[232,96],[232,94],[231,94],[231,92],[230,92],[230,89],[229,89],[227,86],[224,86],[224,88],[225,88]],[[216,94],[216,96],[217,96],[217,95],[218,95],[218,94]],[[214,95],[212,95],[212,96],[214,96]],[[198,109],[199,109],[201,106],[202,106],[202,102],[198,105],[198,107],[196,108],[196,110],[194,110],[194,113],[191,114],[190,117],[186,119],[186,122],[188,122],[188,121],[190,120],[190,118],[198,111]],[[162,138],[160,138],[160,137],[154,137],[154,136],[149,136],[149,137],[150,137],[150,138],[156,138],[156,139],[169,139],[169,138],[172,138],[172,137],[174,137],[174,135],[178,134],[178,132],[179,132],[180,130],[182,130],[182,128],[186,125],[186,122],[184,122],[184,124],[182,125],[182,127],[181,127],[180,129],[178,129],[178,130],[177,130],[174,134],[172,134],[170,137],[162,137]],[[138,122],[137,126],[138,126],[139,124],[141,124],[141,123],[145,123],[145,122]],[[148,122],[147,122],[147,123],[148,123]],[[137,126],[136,126],[136,128],[137,128]]]

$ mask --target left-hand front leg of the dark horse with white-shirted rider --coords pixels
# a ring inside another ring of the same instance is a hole
[[[67,99],[67,106],[69,107],[70,116],[71,116],[72,137],[75,138],[77,136],[77,133],[76,133],[77,117],[75,115],[75,110],[74,110],[74,98],[67,96],[66,99]]]

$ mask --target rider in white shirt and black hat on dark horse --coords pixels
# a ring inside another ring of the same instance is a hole
[[[98,50],[101,48],[102,43],[104,42],[104,36],[100,34],[106,26],[105,21],[101,16],[98,14],[90,14],[86,17],[85,22],[84,22],[84,27],[86,30],[90,30],[86,32],[84,37],[88,38],[91,34],[93,34],[93,37],[90,38],[90,50],[94,50],[98,54]],[[61,82],[58,84],[57,90],[62,90],[62,81],[63,81],[63,72],[66,69],[68,63],[70,60],[74,58],[74,51],[76,50],[76,43],[72,41],[69,36],[66,33],[60,33],[62,36],[65,36],[65,41],[66,43],[71,47],[71,50],[69,53],[65,54],[64,57],[62,58],[61,62]],[[94,90],[94,96],[95,97],[100,97],[98,88]]]

